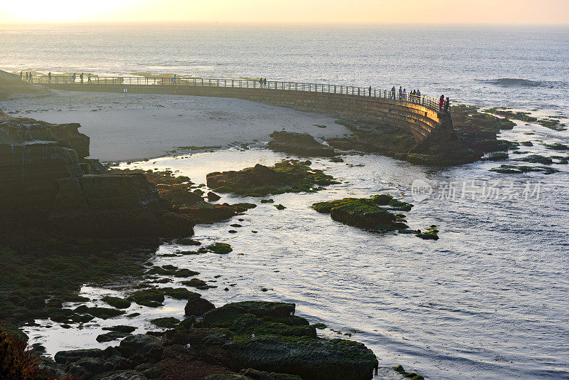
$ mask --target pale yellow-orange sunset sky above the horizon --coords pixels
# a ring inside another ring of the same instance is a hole
[[[232,23],[569,24],[569,0],[76,0],[1,1],[0,24]]]

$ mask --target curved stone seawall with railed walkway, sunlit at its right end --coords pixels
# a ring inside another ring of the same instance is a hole
[[[425,96],[413,99],[409,94],[401,97],[387,90],[290,82],[260,87],[257,81],[227,79],[174,82],[171,78],[112,77],[93,78],[92,83],[70,82],[68,77],[33,78],[33,83],[57,90],[236,97],[356,122],[395,125],[408,130],[418,142],[433,134],[439,141],[456,139],[450,114],[437,112],[437,100]]]

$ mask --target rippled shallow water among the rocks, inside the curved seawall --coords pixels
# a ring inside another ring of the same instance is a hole
[[[568,156],[538,143],[563,142],[563,132],[520,123],[503,137],[534,142],[534,147],[521,147],[523,151]],[[511,154],[518,156],[523,154]],[[266,149],[230,149],[122,167],[171,169],[201,184],[211,171],[272,164],[285,157]],[[295,302],[297,315],[329,327],[319,334],[351,334],[349,339],[373,349],[381,366],[403,364],[429,379],[569,379],[568,165],[553,164],[561,171],[551,175],[506,175],[488,169],[516,162],[428,169],[373,155],[344,159],[315,159],[313,164],[343,183],[315,194],[270,196],[287,207],[282,211],[273,204],[259,204],[259,199],[223,196],[220,202],[252,201],[258,206],[229,221],[197,226],[196,239],[230,243],[232,253],[161,256],[193,249],[166,243],[154,265],[201,272],[198,278],[218,286],[200,291],[215,305],[238,300]],[[364,166],[353,166],[358,164]],[[477,189],[469,182],[473,179]],[[413,199],[415,180],[433,187],[422,201]],[[493,189],[494,196],[484,196],[482,184]],[[530,191],[524,193],[526,186]],[[449,188],[457,190],[454,197]],[[440,240],[363,231],[309,208],[316,201],[384,192],[415,204],[406,213],[410,227],[437,224]],[[233,223],[243,227],[230,227]],[[228,233],[230,229],[238,233]],[[178,281],[174,279],[174,285],[182,286]],[[90,287],[83,291],[110,292]],[[184,302],[168,298],[164,307],[134,305],[132,310],[142,315],[133,321],[107,320],[105,325],[134,324],[141,332],[154,329],[149,320],[181,318]],[[53,354],[65,348],[97,347],[95,337],[102,332],[97,324],[95,320],[82,330],[54,325],[26,331],[33,339],[41,336],[38,341],[47,342]],[[381,377],[392,375],[381,372]]]

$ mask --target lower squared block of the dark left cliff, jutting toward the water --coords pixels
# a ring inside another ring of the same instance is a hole
[[[175,213],[142,174],[81,176],[58,180],[49,221],[78,236],[179,237],[193,219]]]

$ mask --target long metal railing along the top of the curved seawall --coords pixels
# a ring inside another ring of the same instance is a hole
[[[384,90],[373,87],[349,85],[329,85],[324,83],[280,82],[277,80],[252,79],[218,79],[218,78],[180,78],[180,77],[100,77],[85,75],[83,79],[77,75],[34,75],[29,80],[38,85],[69,84],[69,85],[159,85],[159,86],[202,86],[223,88],[259,88],[267,90],[307,91],[313,93],[334,93],[362,97],[379,97],[398,102],[408,102],[422,105],[435,112],[440,112],[439,98],[427,95],[411,95],[398,91]]]

